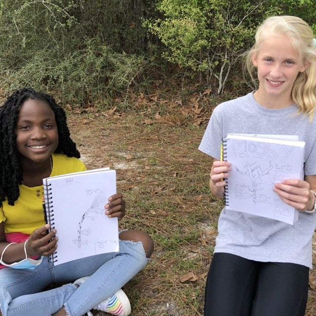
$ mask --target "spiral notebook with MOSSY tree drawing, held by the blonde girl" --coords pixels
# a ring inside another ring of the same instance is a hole
[[[228,134],[222,159],[231,162],[225,204],[234,210],[293,225],[298,210],[273,191],[275,183],[304,178],[305,142],[295,135]]]

